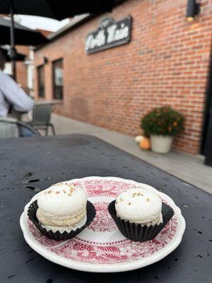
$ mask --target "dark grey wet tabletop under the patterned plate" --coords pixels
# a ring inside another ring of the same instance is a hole
[[[91,136],[7,139],[0,151],[1,283],[212,282],[212,195]],[[23,207],[35,195],[25,186],[45,189],[89,175],[129,178],[170,195],[187,222],[180,246],[151,266],[114,274],[69,270],[35,253],[19,226]]]

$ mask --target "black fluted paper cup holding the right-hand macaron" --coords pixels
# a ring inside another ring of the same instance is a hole
[[[119,231],[129,240],[134,242],[144,242],[149,241],[163,230],[165,225],[174,215],[174,210],[169,205],[163,202],[162,205],[162,215],[163,215],[163,223],[154,226],[141,226],[140,224],[131,223],[129,221],[124,221],[124,219],[120,219],[117,216],[117,212],[115,209],[115,200],[110,202],[108,205],[108,212],[112,216],[115,224],[117,224]]]

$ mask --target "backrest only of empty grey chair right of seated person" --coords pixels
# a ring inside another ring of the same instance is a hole
[[[35,105],[33,108],[33,122],[30,125],[49,125],[52,110],[52,104]]]

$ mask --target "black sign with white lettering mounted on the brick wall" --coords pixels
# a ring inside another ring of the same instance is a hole
[[[120,21],[104,18],[98,30],[86,36],[85,51],[87,54],[126,44],[131,38],[131,16]]]

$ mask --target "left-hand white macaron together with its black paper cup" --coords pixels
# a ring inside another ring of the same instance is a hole
[[[28,216],[48,238],[65,240],[90,224],[95,209],[82,187],[59,183],[40,192],[29,207]]]

